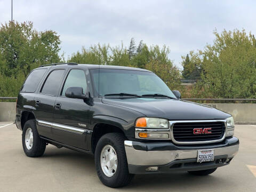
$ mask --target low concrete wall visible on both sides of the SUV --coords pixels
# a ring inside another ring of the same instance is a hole
[[[208,106],[233,115],[236,124],[256,124],[256,104],[211,103]],[[0,121],[14,121],[16,103],[0,102]]]

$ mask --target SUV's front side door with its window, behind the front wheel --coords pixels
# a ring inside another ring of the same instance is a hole
[[[87,150],[86,133],[90,106],[83,99],[67,98],[68,87],[82,87],[85,93],[87,82],[85,71],[71,69],[55,101],[53,139],[69,146]]]

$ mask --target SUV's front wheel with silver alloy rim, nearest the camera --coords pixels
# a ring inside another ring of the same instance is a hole
[[[97,170],[100,181],[108,187],[112,187],[112,188],[124,187],[131,182],[134,176],[133,174],[130,174],[128,170],[128,164],[127,164],[125,148],[124,148],[124,140],[125,140],[125,137],[122,133],[107,133],[103,135],[97,143],[95,154],[94,154],[95,166],[96,166],[96,170]],[[112,153],[114,154],[113,156],[115,156],[116,154],[116,157],[117,157],[117,159],[115,160],[116,170],[115,172],[113,171],[114,173],[113,172],[110,173],[113,175],[107,175],[105,172],[106,170],[109,170],[109,168],[107,167],[107,165],[106,167],[103,166],[102,168],[101,161],[103,162],[104,159],[107,160],[107,156],[103,158],[104,151],[108,153],[107,150],[108,148],[111,148],[111,147],[114,149],[114,150],[112,149],[112,151],[114,151]],[[102,150],[102,149],[105,149],[105,150]]]

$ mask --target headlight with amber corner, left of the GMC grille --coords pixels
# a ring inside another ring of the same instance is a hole
[[[148,129],[168,129],[168,121],[167,119],[162,118],[141,117],[137,119],[135,127]]]

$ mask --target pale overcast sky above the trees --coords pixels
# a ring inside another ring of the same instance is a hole
[[[256,1],[89,1],[13,0],[13,19],[33,21],[37,30],[60,35],[67,58],[94,44],[129,47],[134,37],[147,45],[166,45],[181,67],[181,55],[212,44],[213,31],[245,29],[256,34]],[[0,23],[11,20],[11,0],[0,0]]]

